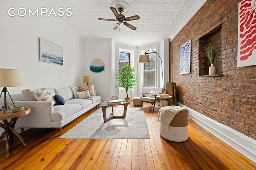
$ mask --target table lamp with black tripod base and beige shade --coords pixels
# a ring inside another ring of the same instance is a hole
[[[9,94],[6,87],[16,87],[16,86],[22,86],[19,70],[0,68],[0,87],[3,87],[0,98],[4,92],[4,106],[2,106],[2,109],[4,109],[4,112],[6,111],[7,108],[10,109],[10,107],[7,106],[7,104],[6,104],[6,102],[7,102],[6,101],[6,92]],[[9,96],[10,96],[10,94],[9,94]],[[12,100],[11,96],[10,96],[10,99]],[[12,101],[12,104],[14,105],[13,101]]]

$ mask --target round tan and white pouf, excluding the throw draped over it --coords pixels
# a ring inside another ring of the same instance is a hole
[[[168,129],[160,123],[160,135],[173,142],[186,141],[188,139],[188,111],[177,113]]]

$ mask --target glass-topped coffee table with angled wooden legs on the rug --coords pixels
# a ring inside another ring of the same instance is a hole
[[[108,104],[108,101],[111,100],[111,99],[108,99],[104,102],[102,102],[99,106],[102,107],[102,113],[103,113],[103,120],[104,120],[104,123],[106,123],[107,121],[111,120],[111,119],[114,119],[114,118],[125,118],[126,117],[126,110],[127,110],[127,106],[128,104],[130,103],[129,101],[127,100],[122,100],[121,101],[121,104],[116,104],[116,105],[109,105]],[[124,106],[124,113],[123,115],[114,115],[114,106],[117,106],[117,105],[123,105]],[[108,107],[112,106],[112,116],[108,117],[107,118],[107,115],[106,115],[106,109]]]

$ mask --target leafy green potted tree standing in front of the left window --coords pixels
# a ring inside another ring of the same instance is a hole
[[[126,90],[126,97],[125,100],[130,100],[128,96],[128,90],[130,88],[134,88],[137,86],[138,77],[135,75],[135,68],[134,66],[130,66],[129,64],[124,65],[123,68],[119,67],[119,74],[116,75],[116,80],[119,82],[119,85],[116,88],[124,88]]]

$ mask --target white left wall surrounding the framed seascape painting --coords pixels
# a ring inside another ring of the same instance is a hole
[[[0,2],[0,68],[19,69],[23,84],[8,88],[12,99],[21,99],[21,90],[26,88],[77,86],[83,76],[82,41],[55,17],[11,17],[7,12],[10,7],[36,9],[37,6],[28,0]],[[39,61],[40,37],[64,48],[63,66]]]

